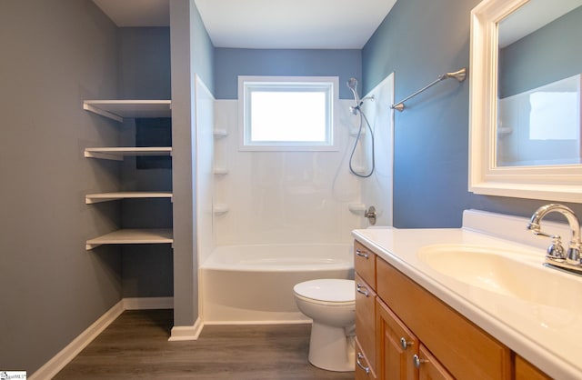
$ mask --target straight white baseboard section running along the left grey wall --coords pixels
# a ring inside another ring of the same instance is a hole
[[[86,345],[91,343],[97,335],[101,334],[108,325],[111,325],[115,318],[124,312],[123,300],[119,301],[110,308],[104,315],[90,325],[81,335],[78,335],[73,342],[66,345],[51,360],[40,367],[33,375],[28,377],[29,380],[45,380],[53,378],[58,372],[65,367],[71,360],[78,355]]]

